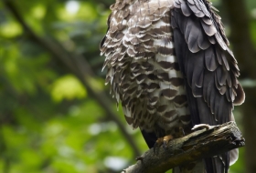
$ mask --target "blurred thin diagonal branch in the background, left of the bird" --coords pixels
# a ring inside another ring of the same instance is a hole
[[[122,121],[112,110],[112,100],[110,100],[104,92],[91,86],[91,78],[95,77],[95,75],[93,74],[91,66],[86,62],[86,60],[81,56],[69,53],[63,46],[50,39],[37,36],[32,28],[27,25],[26,21],[22,18],[22,15],[18,13],[18,10],[16,9],[16,6],[12,0],[4,0],[4,4],[14,15],[19,24],[22,25],[25,32],[31,36],[33,40],[37,41],[40,46],[44,47],[52,55],[52,58],[63,63],[63,65],[69,69],[70,73],[78,76],[81,83],[88,90],[89,95],[91,95],[91,97],[93,97],[106,111],[106,116],[110,117],[117,124],[123,134],[123,137],[125,137],[133,149],[133,155],[139,156],[141,154],[140,149],[135,144],[133,137],[131,137],[131,135],[126,131],[125,127],[123,127]]]

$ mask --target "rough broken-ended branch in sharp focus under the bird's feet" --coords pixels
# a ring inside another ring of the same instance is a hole
[[[123,173],[162,173],[188,162],[214,157],[244,145],[239,128],[231,121],[173,139],[165,149],[158,148],[154,152],[151,148],[144,153],[142,160],[124,169]]]

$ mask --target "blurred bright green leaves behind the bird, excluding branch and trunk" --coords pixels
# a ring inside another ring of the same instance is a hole
[[[13,2],[38,36],[84,56],[98,76],[91,83],[108,92],[99,43],[113,0]],[[248,0],[256,44],[255,4]],[[30,38],[0,1],[0,172],[119,172],[133,163],[133,149],[79,78]],[[144,151],[139,131],[127,130]],[[241,158],[231,172],[243,172]]]

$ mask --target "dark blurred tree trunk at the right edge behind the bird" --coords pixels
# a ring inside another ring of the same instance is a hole
[[[246,9],[246,1],[222,0],[222,5],[227,12],[231,29],[230,43],[234,55],[238,59],[241,77],[256,79],[256,51],[250,35],[250,17]],[[246,101],[241,106],[244,137],[246,139],[245,163],[247,173],[256,172],[256,92],[255,88],[245,88]]]

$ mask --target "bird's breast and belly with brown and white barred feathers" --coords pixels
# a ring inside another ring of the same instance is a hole
[[[131,1],[112,6],[101,46],[106,83],[121,101],[128,124],[147,131],[171,131],[190,123],[183,75],[170,25],[173,2]]]

